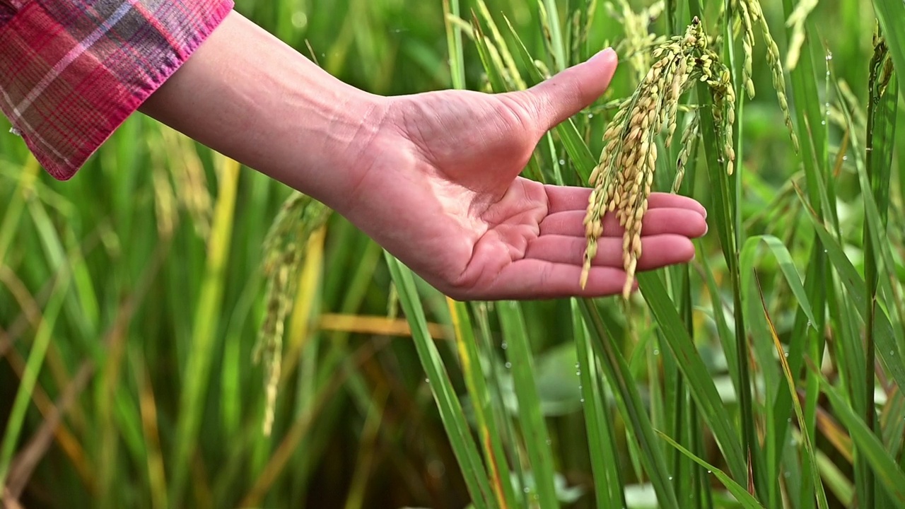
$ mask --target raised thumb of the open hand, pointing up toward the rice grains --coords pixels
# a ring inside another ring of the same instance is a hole
[[[520,92],[519,99],[538,121],[538,128],[547,132],[603,95],[617,62],[613,48],[606,48],[586,62]]]

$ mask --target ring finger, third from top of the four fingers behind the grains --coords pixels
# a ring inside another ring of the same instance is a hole
[[[540,236],[525,250],[526,258],[536,258],[556,264],[584,264],[586,240],[574,236]],[[638,270],[650,271],[666,265],[684,264],[694,259],[694,245],[681,235],[654,235],[641,241],[641,258]],[[594,265],[623,266],[622,237],[605,237],[597,241]]]

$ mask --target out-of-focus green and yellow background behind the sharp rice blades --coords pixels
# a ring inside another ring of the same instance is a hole
[[[587,12],[592,3],[593,30],[570,61],[607,44],[626,48],[618,45],[625,38],[621,3],[607,8],[604,2],[558,2],[559,19]],[[486,5],[499,26],[508,20],[528,52],[556,68],[545,56],[538,5]],[[640,11],[650,3],[631,5]],[[474,7],[462,2],[467,24]],[[367,91],[406,94],[452,86],[441,0],[237,0],[236,9]],[[783,5],[764,2],[764,9],[785,54]],[[662,15],[648,21],[652,32],[665,34]],[[818,35],[810,40],[811,51],[818,58],[832,54],[834,75],[851,91],[849,99],[866,105],[871,4],[823,2],[809,23]],[[489,90],[481,55],[468,37],[463,48],[468,88]],[[790,181],[799,168],[789,163],[798,159],[776,106],[764,48],[758,39],[758,94],[745,103],[738,126],[749,176],[742,184],[738,226],[782,238],[804,273],[808,250],[795,239],[801,235],[810,243],[813,235],[800,233],[800,210],[793,213],[788,200],[776,201],[795,197]],[[603,105],[630,94],[637,82],[626,60],[630,55],[620,56],[624,63],[611,91],[589,111],[596,119],[579,126],[595,155],[608,111]],[[824,62],[816,63],[822,73]],[[817,86],[823,98],[827,84]],[[8,127],[0,120],[0,131]],[[831,135],[829,159],[843,157],[836,149],[841,138],[839,132]],[[553,171],[553,161],[562,159],[567,169],[571,164],[558,140],[550,147],[538,157],[544,175]],[[905,168],[903,158],[900,149],[895,168]],[[849,163],[839,168],[834,179],[842,237],[860,271],[858,176]],[[574,171],[564,173],[578,183]],[[893,201],[900,204],[898,170],[893,175]],[[690,178],[692,196],[712,205],[704,172]],[[265,373],[252,361],[268,314],[262,245],[290,195],[290,189],[141,115],[129,119],[69,182],[46,175],[21,140],[0,135],[0,472],[6,475],[7,507],[459,509],[470,503],[383,252],[340,216],[329,216],[326,226],[304,239],[306,256],[281,345],[273,427],[270,436],[262,432]],[[784,219],[788,226],[781,226]],[[895,234],[891,240],[899,239]],[[711,274],[723,288],[729,275],[719,239],[711,233],[699,246],[691,273]],[[895,259],[894,270],[900,271],[898,251]],[[763,263],[758,270],[765,276],[770,312],[787,344],[797,307],[776,262],[765,257]],[[706,281],[694,278],[693,338],[715,386],[730,395],[719,322],[710,298],[703,297]],[[468,402],[447,303],[417,284],[452,384]],[[731,293],[726,298],[731,301]],[[652,389],[651,367],[663,347],[648,341],[655,337],[651,317],[636,310],[634,321],[626,321],[623,304],[610,299],[600,305],[643,398],[661,399]],[[494,305],[476,303],[472,312],[492,314]],[[595,506],[584,399],[576,381],[574,308],[568,301],[522,303],[521,312],[556,457],[557,494],[564,506]],[[499,326],[487,323],[482,332],[499,344]],[[505,360],[500,354],[497,361]],[[779,376],[778,370],[768,373]],[[28,390],[17,399],[23,385]],[[511,379],[500,379],[499,388],[500,408],[515,408]],[[726,404],[732,408],[731,396]],[[621,418],[612,424],[614,436],[622,437],[617,442],[626,502],[651,507],[639,453],[624,439],[631,429]],[[841,454],[826,449],[827,458]],[[842,471],[847,480],[851,467]],[[842,504],[852,485],[840,483],[841,491],[831,496],[834,504]]]

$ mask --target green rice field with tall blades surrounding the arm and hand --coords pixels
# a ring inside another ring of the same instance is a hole
[[[710,231],[627,299],[458,302],[147,117],[68,182],[0,134],[5,508],[905,506],[901,0],[236,4],[386,95],[612,45],[523,175],[612,200],[633,154]]]

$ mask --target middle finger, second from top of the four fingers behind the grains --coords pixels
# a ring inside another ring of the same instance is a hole
[[[540,222],[540,235],[585,236],[585,212],[570,210],[557,212]],[[614,214],[604,217],[604,234],[601,236],[622,236],[625,228],[619,226]],[[707,233],[707,220],[688,208],[652,208],[644,215],[641,235],[675,234],[697,238]]]

